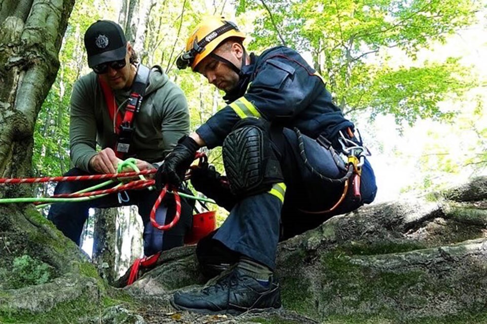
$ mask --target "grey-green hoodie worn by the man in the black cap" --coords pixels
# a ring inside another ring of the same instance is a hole
[[[115,90],[119,114],[125,113],[130,90]],[[149,86],[141,110],[134,117],[135,132],[130,151],[149,163],[161,161],[189,134],[189,110],[181,89],[172,83],[160,66],[152,67]],[[96,154],[96,143],[114,148],[114,123],[94,72],[77,80],[71,96],[69,148],[72,167],[90,171],[88,163]]]

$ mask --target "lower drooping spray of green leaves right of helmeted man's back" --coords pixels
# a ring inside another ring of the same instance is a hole
[[[426,62],[422,67],[385,67],[375,70],[372,77],[359,75],[358,82],[352,79],[353,86],[344,92],[351,98],[348,111],[363,109],[366,103],[371,107],[372,118],[392,114],[398,125],[402,121],[413,125],[419,118],[451,120],[454,112],[442,111],[438,104],[461,96],[473,86],[464,80],[467,78],[464,68],[454,58],[441,64]]]

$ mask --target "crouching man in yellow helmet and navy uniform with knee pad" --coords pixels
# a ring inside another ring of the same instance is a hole
[[[224,18],[205,19],[177,62],[223,90],[228,105],[180,139],[156,185],[179,185],[199,147],[222,146],[227,181],[214,169],[192,169],[194,187],[230,211],[218,231],[200,241],[197,256],[206,270],[235,263],[213,284],[176,293],[172,303],[179,309],[280,308],[277,242],[371,203],[376,193],[367,150],[322,78],[284,46],[247,55],[244,38]]]

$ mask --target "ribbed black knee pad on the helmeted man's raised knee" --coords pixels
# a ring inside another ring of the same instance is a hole
[[[222,153],[230,191],[236,196],[266,192],[272,184],[284,181],[268,126],[260,119],[239,121],[223,141]]]

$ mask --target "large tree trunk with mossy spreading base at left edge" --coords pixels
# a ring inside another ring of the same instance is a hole
[[[0,1],[1,177],[31,174],[34,123],[56,77],[73,6],[74,0]],[[29,186],[1,190],[2,196],[32,193]],[[0,241],[0,322],[37,321],[31,312],[47,316],[75,300],[100,304],[103,286],[94,268],[32,205],[0,206]]]

